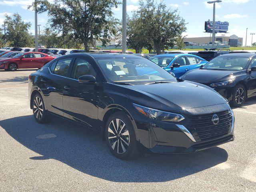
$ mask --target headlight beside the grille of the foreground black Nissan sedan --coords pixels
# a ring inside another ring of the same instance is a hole
[[[169,113],[169,112],[164,112],[157,109],[147,108],[138,104],[133,104],[133,105],[136,108],[136,110],[138,110],[139,113],[151,119],[169,121],[169,122],[180,122],[185,119],[180,114]]]

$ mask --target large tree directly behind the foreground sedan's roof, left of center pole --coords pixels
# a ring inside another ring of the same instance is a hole
[[[72,36],[84,44],[89,51],[89,44],[94,38],[102,41],[103,46],[110,42],[116,33],[113,8],[118,0],[38,0],[38,12],[48,12],[50,26],[62,36]],[[30,7],[35,7],[34,4]]]

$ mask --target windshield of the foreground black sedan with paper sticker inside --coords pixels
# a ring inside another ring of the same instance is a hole
[[[145,58],[96,59],[110,82],[146,84],[148,82],[177,82],[171,74]]]

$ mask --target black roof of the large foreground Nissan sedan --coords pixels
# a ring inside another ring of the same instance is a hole
[[[103,53],[103,52],[82,52],[82,53],[73,53],[72,56],[85,56],[89,55],[93,58],[141,58],[140,56],[135,56],[132,54],[120,54],[120,53]],[[66,55],[68,57],[68,55]]]

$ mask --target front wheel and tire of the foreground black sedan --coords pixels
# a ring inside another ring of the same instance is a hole
[[[124,112],[115,112],[108,118],[105,126],[105,139],[111,153],[119,159],[132,159],[140,154],[134,127]]]

